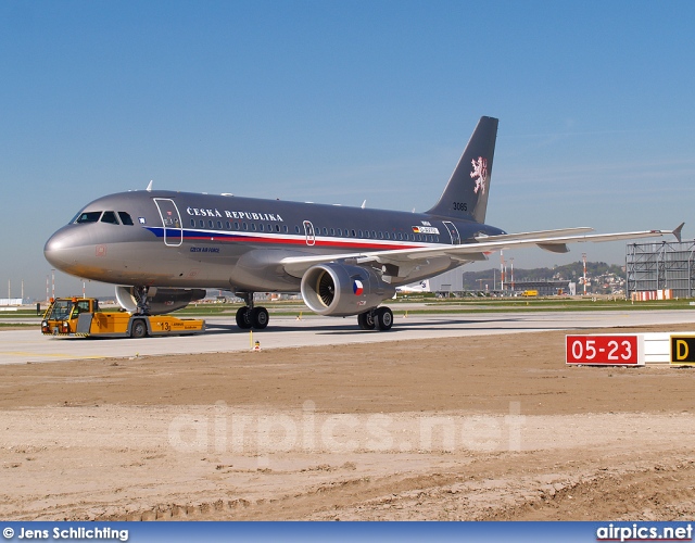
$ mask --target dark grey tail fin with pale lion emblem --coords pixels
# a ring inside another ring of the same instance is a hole
[[[480,117],[439,202],[428,214],[483,223],[498,119]]]

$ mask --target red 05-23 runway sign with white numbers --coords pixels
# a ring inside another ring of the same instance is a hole
[[[567,364],[637,365],[637,334],[566,336]]]

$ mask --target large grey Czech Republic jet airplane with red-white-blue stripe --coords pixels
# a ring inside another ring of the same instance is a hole
[[[152,190],[99,198],[47,241],[54,268],[116,286],[127,311],[156,315],[206,288],[245,305],[241,329],[264,329],[255,292],[301,293],[319,315],[357,316],[363,330],[389,330],[381,305],[397,288],[485,261],[492,252],[571,242],[659,237],[666,230],[587,233],[565,228],[520,233],[484,224],[498,119],[478,122],[439,201],[425,213]],[[680,238],[680,229],[672,233]]]

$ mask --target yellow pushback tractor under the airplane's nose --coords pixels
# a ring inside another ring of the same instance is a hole
[[[172,315],[137,315],[102,312],[96,298],[58,298],[51,301],[41,320],[45,336],[101,338],[146,338],[202,333],[205,321]]]

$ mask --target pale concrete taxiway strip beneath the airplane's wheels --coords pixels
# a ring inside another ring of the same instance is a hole
[[[233,353],[250,350],[255,341],[260,341],[262,350],[267,350],[683,323],[693,323],[695,330],[695,311],[410,315],[396,317],[389,332],[362,331],[355,317],[306,316],[302,320],[271,317],[266,330],[252,334],[239,330],[229,317],[207,317],[205,320],[207,331],[200,336],[138,340],[45,337],[38,327],[36,330],[0,331],[0,364]]]

